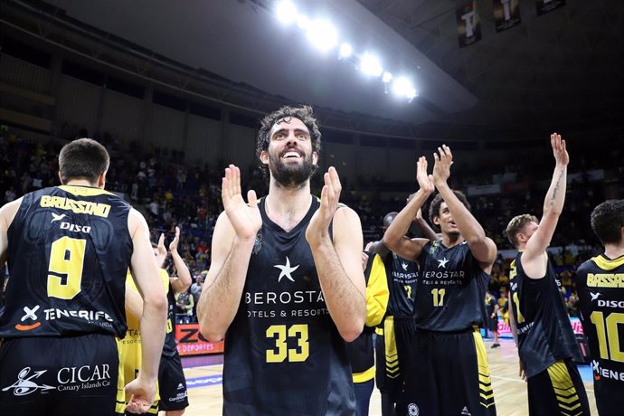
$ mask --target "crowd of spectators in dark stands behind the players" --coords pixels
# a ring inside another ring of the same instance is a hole
[[[87,136],[84,129],[63,130],[75,137]],[[66,137],[72,138],[72,137]],[[210,269],[211,243],[214,223],[222,211],[221,175],[222,166],[184,165],[179,152],[166,152],[151,149],[143,152],[136,144],[122,149],[118,141],[104,134],[95,135],[108,149],[111,165],[107,175],[107,189],[123,194],[139,211],[144,213],[152,231],[152,240],[157,241],[161,232],[167,241],[175,235],[175,226],[182,229],[179,252],[191,270],[194,284],[188,293],[178,298],[178,317],[180,322],[194,321],[194,305],[201,294],[203,277]],[[62,140],[50,139],[40,143],[21,137],[10,128],[0,128],[0,205],[13,201],[28,192],[59,184],[58,155]],[[578,150],[576,150],[578,151]],[[579,160],[571,164],[572,172],[579,173],[568,186],[565,209],[559,227],[552,241],[553,262],[562,279],[571,314],[576,313],[576,298],[573,288],[573,276],[583,260],[597,253],[593,246],[598,244],[590,228],[589,213],[591,208],[608,197],[621,198],[624,191],[624,166],[621,165],[621,151],[603,154],[604,159],[595,159],[591,152],[580,155],[572,152]],[[512,249],[506,239],[507,222],[518,213],[542,213],[544,191],[552,170],[552,155],[535,155],[528,165],[492,165],[482,168],[474,175],[451,175],[451,186],[466,192],[469,185],[485,184],[487,178],[501,171],[511,173],[515,178],[513,192],[473,196],[468,194],[468,201],[477,220],[483,224],[487,235],[496,242],[499,250]],[[524,167],[523,167],[524,166]],[[592,182],[591,169],[600,166],[606,176]],[[266,192],[267,184],[257,166],[251,166],[245,188],[252,188],[257,194]],[[320,184],[313,181],[313,188]],[[414,192],[415,184],[385,184],[380,178],[362,179],[361,182],[348,186],[341,195],[341,201],[352,206],[360,214],[366,241],[376,241],[382,237],[382,219],[385,213],[400,211],[405,197]],[[491,181],[490,181],[491,182]],[[395,196],[380,197],[392,188]],[[313,189],[315,191],[315,189]],[[428,207],[425,207],[427,209]],[[424,215],[427,217],[427,214]],[[569,247],[573,247],[569,249]],[[573,252],[572,252],[573,251]],[[492,270],[490,289],[498,299],[505,303],[509,284],[510,259],[499,255]],[[171,264],[165,266],[173,273]],[[503,312],[503,310],[502,310]]]

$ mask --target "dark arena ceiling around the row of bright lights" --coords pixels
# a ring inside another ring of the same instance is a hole
[[[520,0],[522,23],[501,33],[492,1],[477,0],[482,40],[466,48],[458,44],[458,0],[293,0],[330,17],[341,37],[379,53],[393,72],[413,76],[420,96],[411,103],[335,54],[314,51],[277,22],[270,0],[46,1],[193,68],[287,99],[409,122],[425,136],[465,137],[474,126],[610,128],[624,119],[621,0],[568,0],[542,16],[534,0]]]

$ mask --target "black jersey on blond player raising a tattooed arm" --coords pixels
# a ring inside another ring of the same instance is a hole
[[[522,267],[522,252],[511,263],[511,305],[518,333],[518,355],[527,377],[543,372],[556,361],[582,362],[568,312],[559,291],[561,283],[550,260],[541,279],[531,279]]]

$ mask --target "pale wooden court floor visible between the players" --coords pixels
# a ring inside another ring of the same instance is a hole
[[[496,412],[500,416],[528,415],[526,384],[518,377],[518,356],[511,340],[502,340],[501,347],[490,348],[491,341],[486,341],[487,357],[496,400]],[[220,375],[222,365],[209,365],[184,369],[186,378]],[[592,383],[585,383],[590,400],[591,414],[598,414],[593,395]],[[190,406],[185,416],[217,416],[222,414],[222,385],[194,387],[188,390]],[[381,416],[381,400],[375,388],[371,396],[371,416]]]

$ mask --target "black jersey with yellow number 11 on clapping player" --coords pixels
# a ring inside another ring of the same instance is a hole
[[[445,247],[429,241],[418,258],[416,326],[428,331],[455,332],[485,322],[483,299],[489,275],[481,269],[468,243]]]

